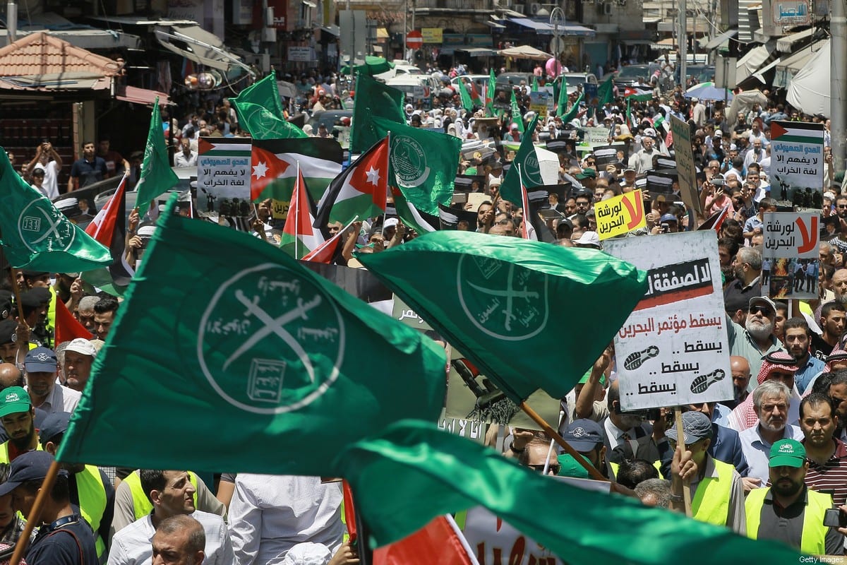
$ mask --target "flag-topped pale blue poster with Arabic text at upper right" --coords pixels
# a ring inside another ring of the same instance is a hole
[[[771,122],[771,196],[804,208],[823,204],[823,124]]]

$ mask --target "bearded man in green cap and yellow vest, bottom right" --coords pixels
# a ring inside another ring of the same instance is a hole
[[[823,525],[832,496],[805,485],[809,463],[797,440],[779,440],[768,461],[771,486],[750,490],[745,503],[747,535],[753,540],[779,540],[811,555],[844,555],[844,535]]]

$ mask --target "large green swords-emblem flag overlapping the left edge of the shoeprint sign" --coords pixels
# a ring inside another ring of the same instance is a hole
[[[357,258],[516,403],[567,395],[647,290],[644,271],[606,253],[472,231]],[[590,339],[562,339],[562,312],[591,319]]]

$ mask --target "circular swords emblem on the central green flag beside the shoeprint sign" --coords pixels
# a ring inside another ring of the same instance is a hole
[[[545,329],[550,317],[548,277],[515,263],[462,255],[457,294],[468,319],[486,334],[507,341],[527,340]]]

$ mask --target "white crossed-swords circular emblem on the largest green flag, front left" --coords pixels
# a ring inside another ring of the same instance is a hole
[[[213,389],[257,414],[308,406],[338,379],[345,326],[301,274],[263,263],[226,280],[200,319],[197,360]]]

